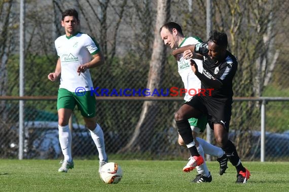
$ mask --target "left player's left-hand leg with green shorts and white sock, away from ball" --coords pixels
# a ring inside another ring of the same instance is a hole
[[[68,127],[68,121],[74,107],[75,100],[71,92],[60,88],[57,97],[58,133],[64,160],[60,162],[62,165],[58,169],[58,172],[67,172],[68,169],[74,168],[74,162],[71,156],[71,132]]]

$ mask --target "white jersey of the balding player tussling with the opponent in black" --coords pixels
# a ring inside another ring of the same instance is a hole
[[[202,42],[202,40],[198,37],[186,37],[182,43],[180,43],[180,47],[188,45],[188,44],[197,44],[199,42]],[[201,60],[194,59],[196,64],[198,65],[198,71],[202,73],[203,71],[203,63]],[[187,90],[191,90],[191,95],[189,92],[186,93],[185,95],[185,101],[189,101],[190,98],[192,98],[192,94],[196,94],[199,91],[199,88],[201,88],[201,81],[198,79],[198,77],[194,74],[190,60],[186,60],[183,57],[183,54],[177,55],[177,68],[178,68],[178,73],[180,77],[182,77],[182,80],[184,82],[184,86]],[[195,93],[196,90],[197,92]]]

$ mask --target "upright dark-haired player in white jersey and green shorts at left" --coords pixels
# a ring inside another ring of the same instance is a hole
[[[68,127],[69,117],[75,106],[81,111],[87,128],[99,154],[99,170],[107,162],[103,131],[96,122],[96,100],[89,70],[104,64],[104,57],[96,41],[79,31],[80,21],[75,9],[62,13],[61,25],[65,35],[55,40],[58,61],[55,71],[48,79],[55,81],[60,77],[57,97],[59,142],[64,156],[59,172],[74,168],[71,156],[71,132]]]

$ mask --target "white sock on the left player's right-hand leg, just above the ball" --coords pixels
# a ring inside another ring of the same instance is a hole
[[[95,129],[93,131],[89,129],[89,131],[96,145],[99,161],[105,161],[107,156],[105,154],[104,136],[101,127],[98,124],[96,124]]]

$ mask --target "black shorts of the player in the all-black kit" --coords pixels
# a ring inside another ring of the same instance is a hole
[[[184,104],[192,106],[206,114],[211,129],[213,129],[214,123],[218,123],[224,125],[224,128],[229,131],[232,103],[232,99],[195,95],[190,101]]]

